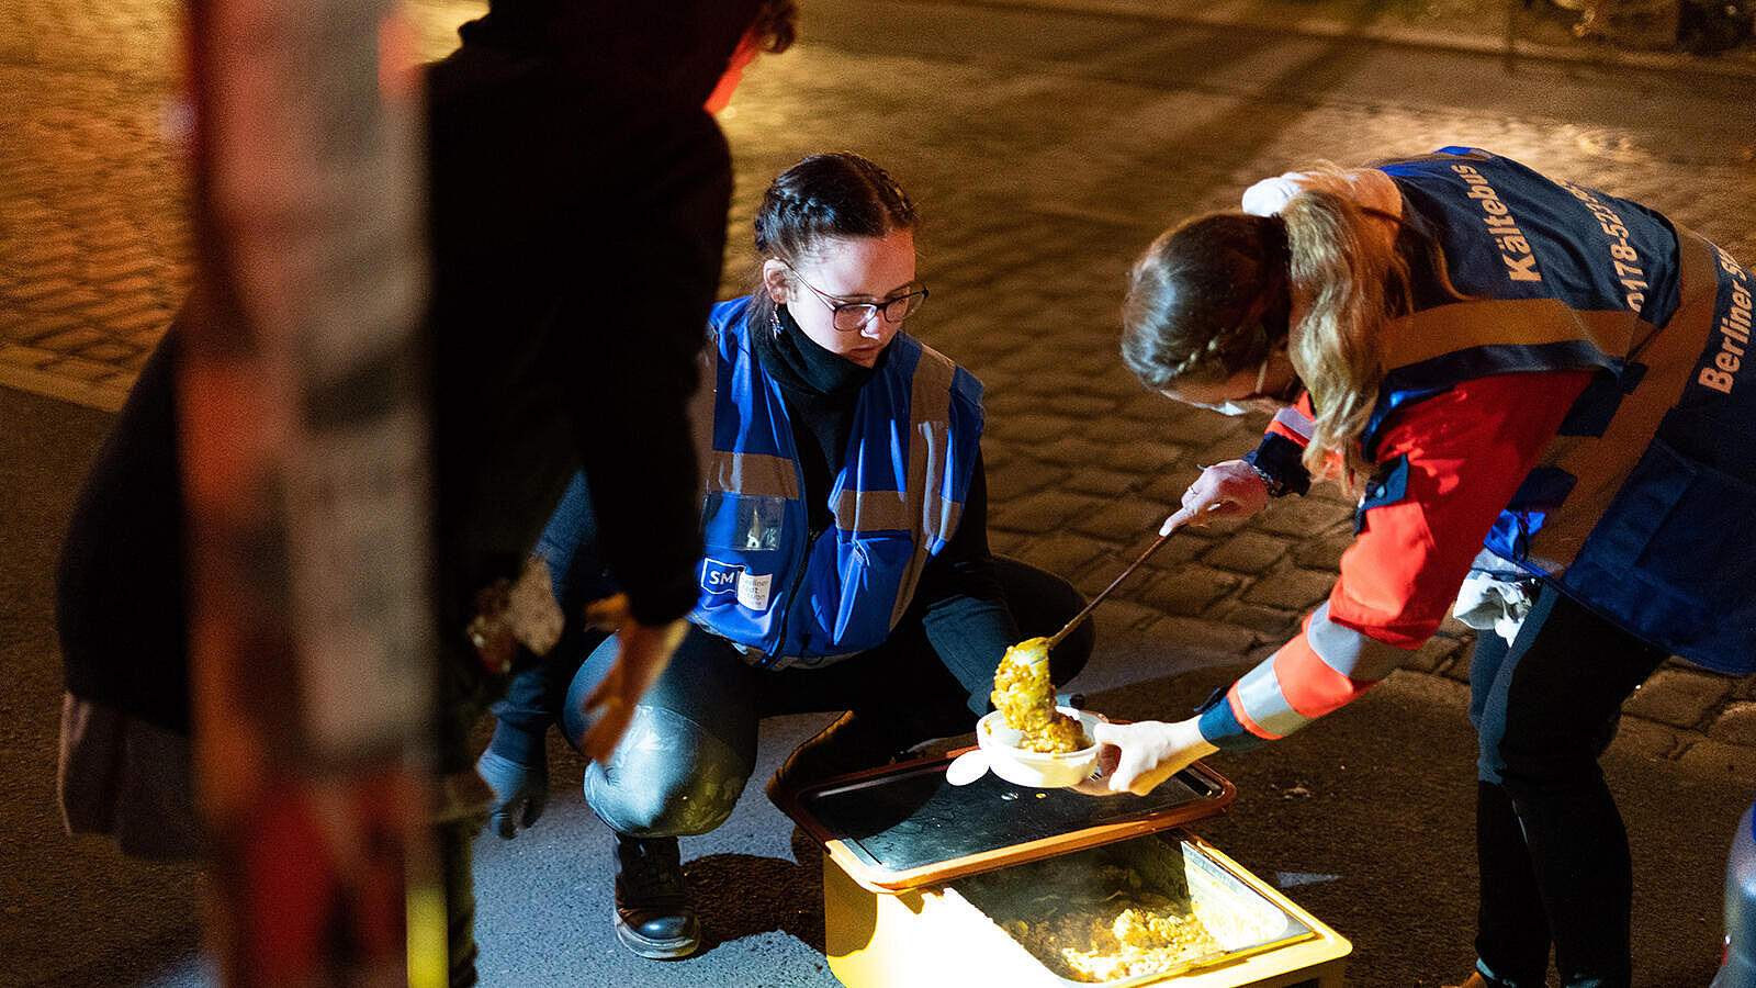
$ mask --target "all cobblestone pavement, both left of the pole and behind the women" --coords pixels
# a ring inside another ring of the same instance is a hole
[[[1147,394],[1115,355],[1127,262],[1263,174],[1479,144],[1756,258],[1747,77],[1498,65],[1249,26],[1213,51],[1212,33],[1173,19],[1043,4],[806,7],[804,42],[760,62],[725,116],[739,169],[725,292],[743,290],[748,211],[774,171],[825,148],[892,167],[927,218],[934,297],[911,329],[989,389],[994,545],[1087,592],[1145,545],[1198,464],[1243,452],[1263,425]],[[179,5],[0,9],[18,25],[0,39],[0,385],[114,410],[188,287]],[[446,51],[476,9],[416,4],[425,51]],[[1105,605],[1108,622],[1213,657],[1268,654],[1328,592],[1349,519],[1319,490],[1231,536],[1178,536]],[[1461,680],[1466,643],[1447,624],[1410,670]],[[1673,663],[1628,714],[1658,756],[1756,777],[1747,680]]]

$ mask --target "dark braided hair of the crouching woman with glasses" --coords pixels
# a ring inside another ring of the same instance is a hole
[[[774,313],[760,260],[799,267],[825,239],[883,237],[918,227],[908,193],[873,162],[843,151],[801,160],[774,178],[757,206],[759,264],[750,325],[766,325]]]

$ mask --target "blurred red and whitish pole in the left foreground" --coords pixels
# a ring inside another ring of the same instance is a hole
[[[385,0],[191,0],[179,369],[225,984],[443,984],[420,127]]]

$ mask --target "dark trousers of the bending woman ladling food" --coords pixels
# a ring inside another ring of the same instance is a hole
[[[1475,949],[1496,988],[1542,988],[1551,944],[1566,988],[1628,986],[1628,833],[1598,756],[1665,657],[1547,585],[1510,645],[1479,635]]]

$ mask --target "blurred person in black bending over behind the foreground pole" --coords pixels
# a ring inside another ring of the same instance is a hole
[[[467,631],[479,601],[520,578],[576,469],[627,594],[616,707],[694,605],[685,403],[732,188],[708,107],[759,49],[792,42],[794,18],[792,0],[493,0],[427,69],[443,774],[471,770],[469,730],[502,687]],[[179,338],[172,325],[100,448],[56,573],[67,826],[155,858],[195,849]],[[439,828],[453,984],[476,979],[479,826]]]

